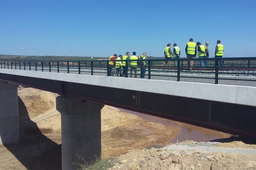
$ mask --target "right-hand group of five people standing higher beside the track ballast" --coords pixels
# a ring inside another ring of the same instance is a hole
[[[170,48],[171,44],[167,44],[167,47],[165,48],[165,58],[167,59],[171,59],[171,57],[173,56],[173,58],[179,58],[181,55],[180,52],[180,48],[177,47],[177,44],[174,43],[173,44],[173,53],[171,51]],[[193,42],[193,38],[189,39],[189,42],[186,45],[185,48],[185,52],[187,54],[187,58],[194,58],[197,55],[198,52],[198,56],[199,58],[209,58],[209,42],[206,41],[205,45],[202,45],[200,42],[194,43]],[[220,40],[217,40],[217,45],[215,48],[215,58],[221,58],[223,56],[223,51],[224,51],[224,47],[221,44]],[[166,66],[170,66],[170,62],[171,61],[166,61],[165,65]],[[200,65],[201,67],[206,67],[208,63],[208,60],[200,60]],[[219,63],[221,64],[221,66],[223,66],[223,61],[219,60]],[[174,65],[177,66],[177,61],[174,61]],[[193,67],[193,61],[188,61],[188,69],[191,70]]]

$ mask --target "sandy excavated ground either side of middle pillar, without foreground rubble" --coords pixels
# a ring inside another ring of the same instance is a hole
[[[20,142],[0,145],[0,169],[61,169],[61,120],[55,108],[57,94],[19,87],[18,96]],[[167,144],[168,139],[180,131],[178,126],[148,122],[111,106],[104,106],[101,111],[101,130],[102,158],[119,156],[155,143]]]

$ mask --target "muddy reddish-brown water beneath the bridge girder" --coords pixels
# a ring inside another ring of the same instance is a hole
[[[168,119],[163,119],[155,116],[150,116],[138,112],[133,112],[133,111],[128,111],[125,109],[118,108],[121,112],[126,112],[126,113],[131,113],[134,115],[137,115],[138,117],[150,121],[150,122],[155,122],[155,123],[161,123],[163,125],[167,126],[179,126],[181,128],[181,132],[179,135],[176,136],[174,139],[170,139],[169,143],[176,143],[177,140],[179,142],[184,141],[184,140],[194,140],[197,142],[201,141],[210,141],[214,139],[220,139],[220,138],[228,138],[230,137],[229,134],[225,134],[222,132],[210,130],[210,129],[205,129],[201,128],[198,126],[190,125],[190,124],[185,124],[181,122],[176,122],[173,120],[168,120]]]

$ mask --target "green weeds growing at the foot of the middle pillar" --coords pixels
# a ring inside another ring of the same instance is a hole
[[[112,163],[109,162],[108,159],[101,159],[100,157],[96,156],[95,162],[85,162],[84,157],[81,155],[76,154],[78,158],[78,162],[73,163],[73,165],[80,166],[82,170],[100,170],[100,169],[108,169],[113,166]]]

